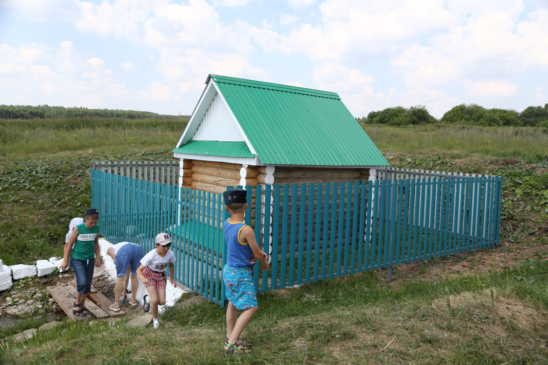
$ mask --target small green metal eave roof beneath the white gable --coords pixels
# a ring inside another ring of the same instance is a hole
[[[208,156],[255,157],[249,151],[246,142],[189,141],[172,152]]]

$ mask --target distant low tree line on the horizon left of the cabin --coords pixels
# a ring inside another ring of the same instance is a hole
[[[56,107],[49,105],[0,105],[0,119],[53,119],[53,118],[163,118],[184,119],[189,115],[166,115],[121,109],[89,109],[82,107]]]

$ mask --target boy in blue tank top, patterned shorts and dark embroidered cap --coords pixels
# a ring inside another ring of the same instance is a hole
[[[227,355],[236,355],[249,352],[246,341],[241,341],[239,336],[258,309],[252,257],[259,260],[262,270],[269,269],[269,262],[267,254],[261,251],[255,241],[253,229],[243,223],[247,209],[246,190],[226,190],[223,196],[226,211],[230,213],[230,218],[222,226],[227,246],[222,279],[229,300],[226,309],[225,352]],[[243,312],[236,320],[237,310]]]

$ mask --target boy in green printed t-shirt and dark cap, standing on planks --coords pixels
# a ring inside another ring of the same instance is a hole
[[[99,254],[99,211],[85,211],[84,223],[72,229],[70,240],[65,244],[64,260],[60,270],[65,270],[70,257],[70,267],[76,276],[76,302],[72,304],[72,314],[89,318],[91,314],[84,309],[85,296],[92,286],[93,266],[101,266]],[[71,253],[72,251],[72,253]],[[94,260],[95,257],[95,260]]]

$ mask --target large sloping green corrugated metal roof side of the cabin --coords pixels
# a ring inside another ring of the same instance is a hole
[[[334,92],[210,77],[264,164],[390,165]]]

